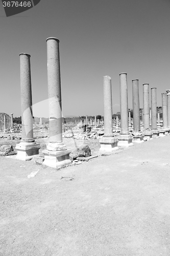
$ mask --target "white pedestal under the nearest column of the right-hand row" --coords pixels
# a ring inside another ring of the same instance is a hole
[[[99,140],[101,144],[100,152],[112,152],[114,150],[118,150],[117,147],[118,139],[115,137],[103,137]]]

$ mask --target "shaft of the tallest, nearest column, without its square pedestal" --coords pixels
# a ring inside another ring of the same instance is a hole
[[[62,142],[62,108],[59,40],[54,37],[47,42],[47,80],[49,100],[49,136],[50,142]]]

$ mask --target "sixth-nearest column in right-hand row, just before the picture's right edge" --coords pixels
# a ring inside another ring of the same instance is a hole
[[[160,136],[166,135],[169,133],[168,123],[167,123],[167,94],[162,93],[162,119],[163,127],[160,129]]]

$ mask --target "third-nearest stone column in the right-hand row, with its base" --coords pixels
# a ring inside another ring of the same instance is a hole
[[[133,95],[133,142],[143,142],[143,136],[140,131],[140,111],[139,111],[139,85],[138,79],[132,80]]]

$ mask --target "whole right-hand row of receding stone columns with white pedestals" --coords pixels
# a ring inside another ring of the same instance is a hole
[[[149,106],[149,83],[143,84],[143,131],[140,131],[140,112],[139,112],[139,87],[138,79],[132,80],[133,94],[133,132],[129,132],[128,125],[128,90],[127,90],[127,73],[120,73],[120,116],[121,131],[118,141],[113,137],[112,129],[112,95],[111,95],[111,78],[104,76],[104,137],[100,139],[100,151],[113,151],[115,149],[128,147],[133,143],[143,142],[143,138],[150,140],[157,138],[169,132],[170,127],[170,90],[162,93],[162,115],[163,127],[158,130],[157,127],[157,99],[156,88],[151,88],[151,113]],[[150,123],[151,117],[151,123]],[[129,123],[131,124],[131,116],[129,112]],[[116,125],[118,125],[118,117],[116,117]],[[151,129],[150,129],[151,125]],[[160,125],[160,116],[158,113],[158,125]]]

